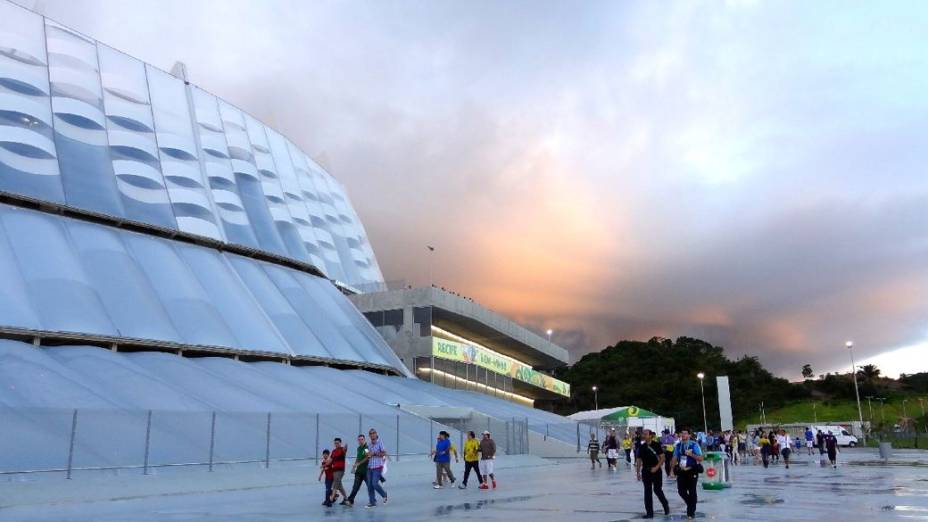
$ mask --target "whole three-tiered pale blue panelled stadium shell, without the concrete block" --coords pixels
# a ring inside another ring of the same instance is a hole
[[[0,277],[0,474],[269,465],[370,426],[397,458],[439,429],[574,443],[415,377],[345,297],[383,276],[344,188],[290,140],[7,0]]]

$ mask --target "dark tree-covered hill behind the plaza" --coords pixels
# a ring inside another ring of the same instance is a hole
[[[767,371],[756,357],[732,360],[725,356],[721,347],[699,339],[680,337],[671,341],[655,337],[649,341],[620,341],[559,369],[555,377],[571,384],[571,397],[549,406],[565,415],[593,409],[592,388],[595,385],[599,390],[600,408],[634,404],[674,417],[678,427],[701,429],[702,402],[696,377],[699,372],[705,373],[703,384],[709,429],[720,427],[715,380],[720,375],[727,375],[729,379],[736,425],[758,417],[761,404],[766,412],[771,412],[800,402],[827,403],[833,399],[854,398],[850,374],[822,375],[819,379],[790,383]],[[928,394],[928,374],[893,380],[880,377],[876,368],[862,368],[858,381],[862,398],[865,395]]]

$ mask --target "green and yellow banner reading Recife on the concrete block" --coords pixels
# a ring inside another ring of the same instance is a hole
[[[535,371],[527,364],[486,348],[432,337],[432,355],[439,359],[474,364],[491,372],[508,375],[517,381],[527,382],[558,395],[570,397],[570,385],[566,382]]]

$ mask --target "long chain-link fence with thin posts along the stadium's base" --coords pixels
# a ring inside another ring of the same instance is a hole
[[[0,408],[0,475],[225,464],[269,467],[317,461],[335,437],[351,450],[375,429],[399,461],[426,455],[442,430],[459,451],[467,431],[493,433],[501,453],[528,453],[528,423],[487,417],[449,426],[406,412],[389,415]],[[472,426],[470,424],[473,424]]]

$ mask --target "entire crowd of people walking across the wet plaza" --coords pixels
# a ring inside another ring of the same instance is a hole
[[[323,451],[319,464],[319,480],[325,479],[325,499],[322,503],[324,506],[333,506],[339,498],[342,498],[341,505],[354,505],[356,496],[365,485],[368,508],[377,505],[378,495],[384,504],[387,503],[387,492],[383,487],[386,482],[384,475],[387,471],[387,450],[377,430],[372,428],[368,431],[368,436],[370,439],[365,438],[364,434],[358,435],[354,464],[351,466],[354,482],[350,493],[343,484],[348,449],[340,438],[335,438],[334,449]],[[677,493],[686,504],[687,518],[693,518],[696,515],[697,485],[699,475],[703,472],[702,462],[706,451],[726,453],[734,465],[747,464],[753,460],[755,465],[763,465],[764,468],[779,463],[782,458],[788,469],[793,451],[800,451],[802,447],[806,448],[810,456],[813,455],[813,450],[818,448],[822,462],[824,463],[824,456],[827,454],[830,464],[837,467],[837,438],[830,431],[813,433],[811,428],[806,428],[803,437],[795,438],[790,437],[783,429],[757,429],[751,434],[742,431],[708,431],[696,433],[695,437],[691,437],[689,430],[676,433],[664,430],[658,437],[649,429],[638,428],[634,433],[626,431],[621,439],[616,429],[611,428],[601,443],[595,434],[591,434],[587,452],[592,469],[602,468],[600,453],[605,453],[610,471],[618,469],[619,459],[624,452],[626,466],[634,466],[636,477],[644,486],[645,518],[654,517],[654,496],[660,502],[664,514],[670,514],[670,504],[663,491],[665,476],[676,481]],[[438,433],[429,456],[435,463],[435,481],[432,482],[432,486],[442,489],[447,481],[449,486],[453,487],[457,479],[451,467],[451,459],[458,463],[460,455],[448,432]],[[473,431],[468,432],[467,440],[464,442],[463,458],[464,477],[458,485],[459,489],[467,488],[471,474],[477,479],[479,489],[496,489],[496,474],[493,469],[496,442],[489,431],[484,431],[480,440]]]

